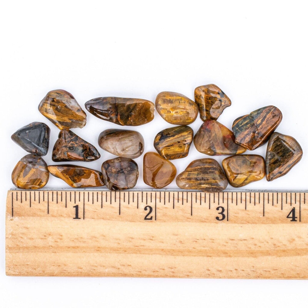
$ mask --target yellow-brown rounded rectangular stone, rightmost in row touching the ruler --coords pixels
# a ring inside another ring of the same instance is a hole
[[[222,161],[231,186],[242,187],[265,176],[265,161],[260,155],[234,155]]]

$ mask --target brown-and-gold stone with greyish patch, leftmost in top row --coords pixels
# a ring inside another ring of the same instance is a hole
[[[39,112],[59,129],[82,128],[87,115],[71,93],[65,90],[49,91],[39,104]]]

